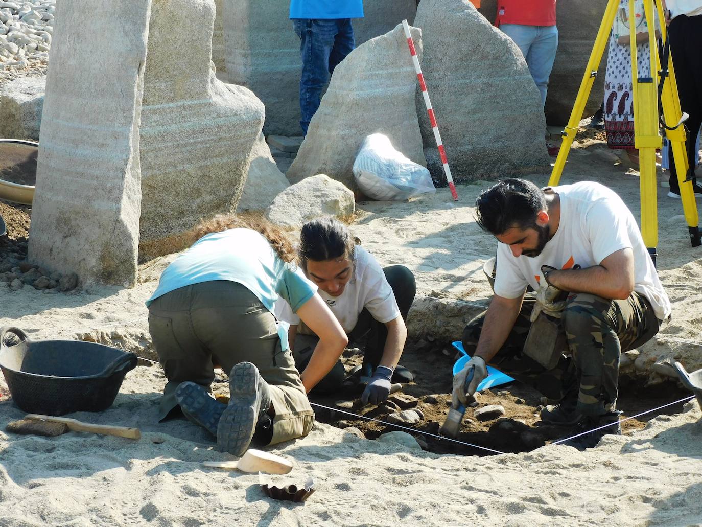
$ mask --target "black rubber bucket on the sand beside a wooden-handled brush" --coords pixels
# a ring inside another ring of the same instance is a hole
[[[5,346],[13,333],[20,343]],[[137,356],[73,340],[30,341],[17,327],[0,330],[0,368],[15,404],[29,413],[65,415],[110,408]]]

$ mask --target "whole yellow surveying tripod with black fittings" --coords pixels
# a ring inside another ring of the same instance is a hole
[[[640,0],[639,0],[640,1]],[[635,0],[629,0],[630,18],[635,13]],[[566,164],[571,145],[578,132],[578,124],[585,111],[585,102],[590,96],[592,83],[597,76],[597,66],[600,65],[604,48],[607,45],[609,32],[614,23],[614,17],[619,5],[619,0],[609,0],[607,9],[604,11],[604,18],[600,30],[597,32],[595,46],[590,53],[590,61],[587,70],[583,75],[583,82],[578,90],[578,96],[573,107],[568,126],[562,132],[563,142],[558,152],[558,157],[548,181],[550,186],[558,184],[563,168]],[[663,6],[658,5],[658,20],[661,20],[661,37],[667,41],[666,27],[663,20]],[[656,263],[656,246],[658,245],[658,208],[656,200],[656,148],[661,148],[663,139],[659,133],[658,118],[658,97],[661,98],[663,108],[663,134],[673,144],[673,160],[677,171],[678,182],[680,183],[680,197],[682,197],[682,208],[685,213],[685,221],[689,230],[692,247],[702,245],[698,229],[697,204],[695,202],[692,183],[686,180],[689,169],[687,154],[685,152],[685,130],[682,126],[687,114],[682,115],[680,110],[680,100],[677,97],[677,84],[675,83],[675,72],[673,71],[673,60],[668,57],[668,64],[664,64],[661,70],[661,61],[658,57],[658,46],[656,46],[656,25],[654,20],[654,0],[644,0],[644,13],[646,20],[649,20],[649,45],[651,48],[651,69],[649,72],[639,72],[636,49],[636,27],[630,24],[631,37],[631,69],[633,85],[633,105],[634,105],[634,145],[639,149],[640,157],[640,192],[641,192],[641,234],[644,243],[651,254],[651,259]],[[657,76],[654,76],[657,72]],[[662,86],[660,86],[662,84]],[[658,88],[661,88],[658,90]],[[660,93],[659,93],[660,92]],[[668,126],[667,123],[675,123]]]

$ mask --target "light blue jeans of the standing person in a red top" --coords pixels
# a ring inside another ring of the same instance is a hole
[[[541,103],[545,105],[548,77],[558,48],[558,28],[555,25],[501,24],[500,29],[522,50],[529,73],[541,92]]]

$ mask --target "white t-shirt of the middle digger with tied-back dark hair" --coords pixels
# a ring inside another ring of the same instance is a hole
[[[380,323],[390,322],[400,315],[395,294],[385,278],[383,268],[359,245],[354,250],[353,275],[344,292],[338,297],[332,297],[322,289],[317,292],[347,333],[356,327],[358,315],[363,308],[367,308]],[[283,300],[275,303],[274,314],[278,320],[284,320],[290,325],[300,324],[300,317],[293,314],[290,306]]]

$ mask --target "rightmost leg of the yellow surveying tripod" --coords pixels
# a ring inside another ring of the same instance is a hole
[[[663,17],[663,6],[658,3],[658,16]],[[664,20],[660,18],[660,20]],[[665,24],[661,24],[661,36],[663,41],[668,38],[666,34]],[[659,75],[666,74],[666,65],[661,65],[662,69],[658,72]],[[661,93],[661,105],[663,106],[663,117],[665,124],[673,126],[680,122],[682,110],[680,109],[680,99],[677,97],[677,82],[675,82],[675,70],[673,69],[673,58],[668,57],[667,78],[661,78],[659,82],[663,82],[663,93]],[[680,186],[680,197],[682,198],[682,210],[685,214],[687,230],[690,235],[690,244],[692,247],[702,245],[702,238],[699,232],[699,216],[697,212],[697,203],[695,201],[694,190],[692,183],[685,182],[685,174],[689,169],[687,162],[687,152],[685,151],[685,129],[682,124],[675,130],[666,130],[665,135],[668,141],[673,145],[673,162],[675,162],[675,171],[677,172],[677,181]]]

